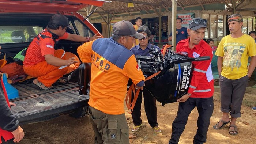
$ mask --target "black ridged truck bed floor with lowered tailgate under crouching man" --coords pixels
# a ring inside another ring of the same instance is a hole
[[[33,83],[15,83],[19,98],[12,99],[16,106],[11,111],[20,124],[47,120],[60,113],[87,106],[89,95],[79,95],[76,92],[79,83],[54,84],[50,90],[41,90]]]

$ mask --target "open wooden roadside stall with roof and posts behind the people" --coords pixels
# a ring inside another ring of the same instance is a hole
[[[143,24],[146,24],[151,30],[151,43],[156,45],[170,43],[175,46],[176,33],[173,33],[173,41],[168,42],[167,38],[171,31],[176,30],[176,17],[189,14],[194,14],[194,17],[202,17],[208,20],[208,30],[205,37],[215,39],[215,45],[218,45],[223,36],[229,34],[226,23],[227,15],[239,13],[244,17],[243,32],[245,34],[255,30],[255,0],[111,1],[99,8],[91,6],[78,11],[84,16],[94,11],[90,16],[90,21],[95,26],[101,27],[104,37],[111,36],[111,26],[115,22],[129,20],[135,24],[135,19],[141,17]],[[183,25],[186,23],[183,22]]]

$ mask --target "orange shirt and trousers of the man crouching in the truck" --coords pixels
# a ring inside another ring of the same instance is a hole
[[[57,58],[67,60],[64,50],[54,50],[55,41],[53,37],[60,39],[67,39],[68,33],[62,37],[50,33],[49,30],[44,29],[33,41],[30,43],[29,48],[23,62],[23,69],[25,73],[31,77],[37,77],[38,81],[43,83],[46,87],[52,86],[60,77],[70,71],[67,66],[53,66],[47,64],[45,55],[51,54]]]

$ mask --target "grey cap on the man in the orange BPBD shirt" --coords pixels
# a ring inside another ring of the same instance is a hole
[[[129,35],[131,37],[135,37],[137,39],[142,39],[143,34],[136,32],[133,27],[133,24],[129,21],[119,21],[116,22],[113,26],[113,34],[114,35]]]

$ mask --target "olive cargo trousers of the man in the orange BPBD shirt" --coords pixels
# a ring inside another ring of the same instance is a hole
[[[112,115],[89,108],[95,144],[129,144],[129,127],[125,114]]]

